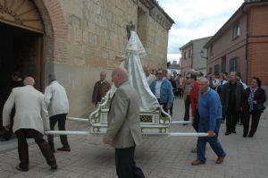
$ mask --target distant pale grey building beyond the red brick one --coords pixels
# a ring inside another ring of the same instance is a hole
[[[203,47],[210,38],[211,37],[193,39],[180,47],[182,76],[190,69],[203,72],[204,74],[206,73],[206,49]]]

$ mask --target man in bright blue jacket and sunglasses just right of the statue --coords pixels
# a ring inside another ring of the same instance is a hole
[[[165,73],[162,70],[156,72],[157,80],[153,81],[150,89],[154,93],[160,105],[163,105],[163,110],[168,113],[168,109],[172,106],[174,99],[172,91],[172,83],[165,78]]]

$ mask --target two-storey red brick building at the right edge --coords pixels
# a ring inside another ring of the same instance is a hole
[[[205,47],[207,72],[241,72],[268,86],[268,1],[245,1]]]

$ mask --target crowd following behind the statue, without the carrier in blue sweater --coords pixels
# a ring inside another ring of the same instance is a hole
[[[198,96],[200,95],[200,79],[205,77],[209,82],[209,88],[220,97],[222,107],[222,123],[226,123],[225,135],[236,133],[236,125],[244,125],[244,137],[253,137],[259,123],[260,115],[264,111],[264,102],[266,95],[262,89],[262,81],[259,78],[253,77],[247,86],[242,81],[240,72],[222,72],[220,74],[207,74],[204,76],[202,72],[195,72],[190,70],[182,77],[177,72],[172,74],[162,75],[165,70],[148,70],[146,69],[146,76],[148,84],[153,93],[155,93],[155,83],[167,79],[170,81],[169,88],[172,89],[173,96],[182,97],[184,100],[185,114],[184,121],[195,120],[199,117],[198,113]],[[155,81],[152,79],[155,78]],[[153,83],[153,85],[152,85]],[[168,88],[168,87],[165,87]],[[160,98],[159,93],[155,94]],[[164,95],[167,96],[167,95]],[[163,102],[159,102],[163,104]],[[163,105],[164,106],[164,105]],[[169,103],[172,106],[172,103]],[[191,113],[191,114],[190,114]],[[172,111],[170,111],[172,115]],[[251,131],[248,133],[248,123],[252,116]],[[187,124],[187,123],[186,123]]]

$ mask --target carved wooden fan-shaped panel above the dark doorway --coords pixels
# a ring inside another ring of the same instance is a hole
[[[0,0],[0,21],[44,34],[43,21],[36,5],[30,0]]]

